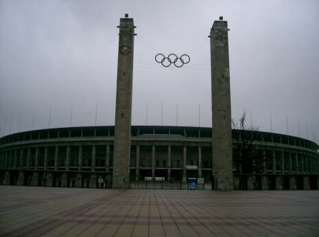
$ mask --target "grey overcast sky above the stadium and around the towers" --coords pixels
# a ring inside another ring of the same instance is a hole
[[[132,125],[211,126],[207,36],[224,16],[232,117],[246,109],[260,131],[319,142],[316,0],[0,0],[0,135],[94,126],[96,111],[97,126],[114,125],[117,25],[126,13],[137,26]],[[158,53],[191,62],[164,68]]]

